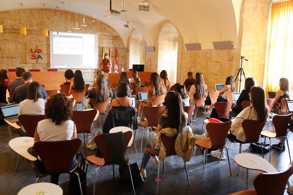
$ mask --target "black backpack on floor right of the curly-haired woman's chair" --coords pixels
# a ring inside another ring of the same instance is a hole
[[[81,156],[81,162],[79,161],[80,156]],[[81,195],[80,190],[79,190],[78,177],[74,173],[74,172],[76,172],[79,175],[82,194],[86,194],[86,173],[88,171],[88,163],[85,161],[84,154],[82,152],[79,152],[77,154],[76,159],[78,160],[78,166],[76,167],[76,169],[73,172],[70,173],[69,182],[68,182],[69,192],[70,192],[70,194]],[[86,170],[84,170],[86,163],[87,163]]]

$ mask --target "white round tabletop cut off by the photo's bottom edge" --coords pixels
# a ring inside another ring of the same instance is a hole
[[[56,184],[40,182],[30,184],[21,189],[17,195],[62,195],[63,190]]]

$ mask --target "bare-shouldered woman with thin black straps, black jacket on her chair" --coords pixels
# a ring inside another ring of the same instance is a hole
[[[117,86],[117,98],[113,99],[111,102],[110,110],[112,110],[116,106],[127,106],[130,107],[135,102],[133,99],[130,99],[130,88],[125,82],[120,82]]]

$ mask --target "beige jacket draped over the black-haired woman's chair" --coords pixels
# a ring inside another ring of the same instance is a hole
[[[166,149],[163,145],[161,134],[164,133],[168,137],[176,136],[177,130],[174,128],[162,129],[156,140],[156,149],[160,149],[159,158],[161,162],[164,162],[166,158]],[[181,156],[184,162],[190,161],[195,146],[195,138],[191,132],[190,126],[187,126],[183,130],[183,134],[177,136],[175,141],[175,152],[178,156]]]

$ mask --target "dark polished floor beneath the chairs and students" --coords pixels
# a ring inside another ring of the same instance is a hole
[[[78,110],[81,106],[78,105]],[[202,113],[202,112],[201,112]],[[196,120],[193,121],[193,130],[199,134],[203,122],[203,114],[198,113]],[[101,116],[103,124],[106,116]],[[271,126],[269,126],[271,128]],[[267,126],[265,126],[267,129]],[[99,130],[99,122],[95,122],[95,131]],[[138,133],[135,137],[137,153],[134,147],[129,148],[129,163],[137,162],[140,166],[142,162],[143,153],[140,153],[140,142],[142,136],[142,127],[139,127]],[[148,131],[144,131],[143,137],[143,150],[148,139]],[[0,194],[17,194],[23,187],[35,183],[35,171],[32,168],[32,162],[20,158],[18,163],[18,170],[15,171],[17,154],[13,152],[9,146],[9,140],[19,137],[18,130],[8,125],[0,125],[0,138],[1,138],[1,151],[0,151]],[[78,137],[83,141],[83,134]],[[91,135],[86,135],[86,143],[91,138]],[[278,170],[284,170],[290,164],[288,151],[292,152],[292,139],[293,135],[288,134],[289,146],[288,150],[280,153],[279,150],[271,150],[271,164]],[[260,139],[263,141],[263,138]],[[268,142],[268,140],[267,140]],[[272,139],[272,143],[278,141]],[[229,157],[231,162],[232,176],[230,176],[228,160],[218,163],[217,158],[210,155],[207,156],[207,166],[205,170],[205,181],[202,182],[202,164],[203,153],[199,148],[193,150],[193,156],[187,163],[188,175],[190,179],[190,186],[188,186],[185,170],[183,169],[184,163],[181,157],[171,156],[165,160],[165,172],[162,173],[162,163],[160,166],[160,179],[159,194],[229,194],[235,191],[246,189],[246,169],[241,168],[241,172],[237,175],[238,166],[234,162],[234,156],[238,153],[239,144],[226,142],[229,150]],[[242,152],[247,152],[248,144],[242,146]],[[31,150],[29,150],[31,152]],[[84,144],[81,144],[79,151],[83,151],[85,156],[95,154],[96,151],[89,149],[84,150]],[[261,156],[260,151],[250,149],[250,153]],[[292,154],[292,153],[291,153]],[[227,156],[226,156],[227,157]],[[269,153],[265,153],[265,158],[268,159]],[[56,163],[58,162],[56,159]],[[95,173],[95,165],[89,165],[87,173],[87,191],[86,194],[93,194],[93,181]],[[113,169],[112,165],[102,167],[97,172],[96,178],[96,194],[132,194],[130,186],[119,185],[119,166],[115,166],[115,182],[113,182]],[[136,194],[156,194],[156,175],[157,165],[149,163],[146,169],[147,179],[141,187],[136,187]],[[248,173],[248,189],[253,189],[253,180],[260,171],[249,170]],[[59,186],[62,187],[64,194],[69,194],[68,189],[69,174],[62,174],[59,177]],[[289,179],[293,184],[293,177]],[[50,182],[50,176],[43,177],[39,182]],[[287,192],[285,191],[285,194]]]

